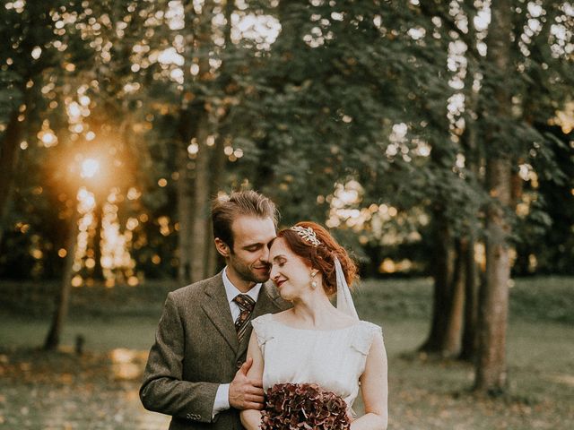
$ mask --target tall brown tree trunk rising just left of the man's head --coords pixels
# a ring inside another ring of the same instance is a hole
[[[201,15],[197,16],[192,2],[184,5],[188,32],[184,53],[184,94],[179,120],[181,164],[178,178],[178,278],[183,283],[202,280],[207,273],[211,151],[206,141],[213,130],[208,98],[201,87],[209,86],[213,80],[208,56],[213,45],[213,7],[213,1],[205,1]],[[196,57],[199,58],[199,73],[194,76],[190,68],[195,64]],[[201,82],[201,87],[196,87],[198,82]],[[191,143],[197,145],[195,160],[190,160],[187,154],[187,147]],[[192,164],[195,164],[193,173]]]

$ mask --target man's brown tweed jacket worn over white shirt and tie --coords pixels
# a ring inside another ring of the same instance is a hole
[[[290,305],[267,282],[253,318]],[[213,402],[219,385],[230,383],[245,362],[251,330],[239,343],[222,272],[171,292],[143,374],[145,409],[171,415],[170,430],[242,429],[237,409],[212,418]]]

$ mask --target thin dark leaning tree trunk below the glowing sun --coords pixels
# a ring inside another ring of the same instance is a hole
[[[52,323],[44,340],[44,349],[55,350],[60,343],[60,336],[64,328],[65,317],[68,313],[70,302],[70,288],[72,285],[72,276],[74,275],[74,258],[75,250],[78,243],[78,219],[80,218],[77,208],[77,202],[74,204],[74,212],[70,220],[70,231],[65,244],[65,265],[62,285],[56,297],[56,309],[52,316]]]

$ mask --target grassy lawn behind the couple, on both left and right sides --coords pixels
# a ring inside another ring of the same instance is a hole
[[[574,428],[573,285],[571,278],[517,280],[511,289],[509,391],[479,399],[468,391],[473,366],[413,352],[429,329],[431,281],[365,282],[355,297],[361,317],[385,334],[389,429]],[[0,428],[167,428],[168,419],[144,411],[137,398],[161,313],[163,298],[157,296],[164,292],[128,300],[129,290],[118,289],[106,293],[104,308],[96,290],[89,294],[89,300],[73,297],[83,305],[66,323],[57,353],[33,348],[48,330],[45,316],[0,314]],[[121,297],[119,311],[111,305],[119,300],[114,294]],[[83,357],[69,352],[77,334],[86,339]]]

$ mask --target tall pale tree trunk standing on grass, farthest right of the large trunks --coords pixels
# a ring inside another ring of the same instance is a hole
[[[487,39],[487,60],[492,66],[487,84],[494,96],[491,115],[496,119],[492,120],[491,138],[487,140],[491,150],[486,157],[486,185],[492,200],[486,213],[486,280],[480,291],[479,351],[474,383],[476,391],[489,393],[504,391],[507,386],[510,225],[505,211],[511,201],[511,158],[504,149],[512,135],[505,129],[511,121],[511,29],[511,2],[500,0],[491,7]]]

